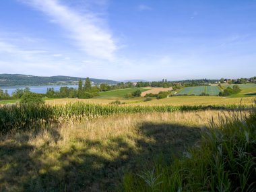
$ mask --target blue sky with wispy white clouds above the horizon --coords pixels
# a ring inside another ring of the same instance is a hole
[[[255,0],[0,1],[0,73],[218,79],[255,66]]]

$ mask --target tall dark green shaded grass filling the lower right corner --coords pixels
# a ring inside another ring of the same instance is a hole
[[[219,117],[199,146],[171,165],[154,166],[125,174],[122,191],[256,191],[256,111]]]

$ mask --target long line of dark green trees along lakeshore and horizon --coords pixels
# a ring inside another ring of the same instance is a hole
[[[161,87],[161,88],[170,88],[172,90],[179,90],[183,87],[187,86],[207,86],[210,84],[218,83],[228,83],[228,84],[245,84],[247,82],[256,83],[256,77],[247,78],[240,78],[240,79],[196,79],[196,80],[183,80],[177,82],[170,82],[167,79],[162,79],[159,82],[137,82],[134,84],[133,82],[126,82],[126,83],[117,83],[114,85],[109,84],[100,84],[100,86],[92,86],[92,83],[87,77],[83,82],[82,79],[78,82],[78,88],[69,88],[67,86],[63,86],[60,90],[55,91],[54,88],[48,88],[46,94],[38,94],[41,97],[48,97],[48,98],[93,98],[95,96],[99,96],[99,92],[106,92],[110,90],[117,90],[117,89],[125,89],[125,88],[141,88],[141,87]],[[235,87],[236,88],[236,87]],[[237,90],[237,89],[236,89]],[[236,92],[234,90],[234,92]],[[16,89],[13,94],[10,96],[7,90],[1,90],[0,88],[0,100],[11,100],[11,99],[20,99],[24,94],[30,92],[29,88],[24,89]],[[234,94],[233,92],[233,94]],[[230,94],[231,90],[225,90],[223,94],[227,96]],[[132,95],[131,95],[132,96]],[[164,94],[165,96],[165,94]],[[162,96],[160,96],[162,97]]]

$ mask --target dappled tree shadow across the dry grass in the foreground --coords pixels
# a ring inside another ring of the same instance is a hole
[[[52,147],[49,141],[35,148],[29,138],[23,142],[1,141],[0,191],[115,191],[124,172],[153,166],[158,157],[170,163],[185,146],[199,140],[200,130],[170,123],[143,123],[135,138],[96,141],[79,137],[65,150],[58,145]],[[50,134],[56,142],[62,139],[57,129]],[[51,151],[57,153],[51,157]]]

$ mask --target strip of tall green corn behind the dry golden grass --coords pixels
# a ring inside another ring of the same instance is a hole
[[[246,106],[243,106],[244,108]],[[248,106],[247,106],[248,107]],[[51,126],[63,121],[84,121],[96,117],[121,113],[172,113],[205,109],[234,110],[238,105],[228,106],[122,106],[100,105],[75,102],[65,105],[3,105],[0,106],[0,133],[7,131],[36,129]]]

